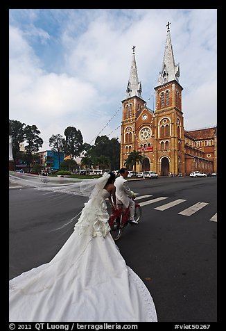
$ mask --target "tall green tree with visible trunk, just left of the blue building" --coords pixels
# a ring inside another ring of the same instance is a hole
[[[24,128],[24,138],[28,145],[25,146],[26,154],[28,156],[28,168],[31,170],[31,162],[33,161],[33,153],[38,152],[42,147],[43,140],[39,137],[40,131],[36,125],[26,125]]]

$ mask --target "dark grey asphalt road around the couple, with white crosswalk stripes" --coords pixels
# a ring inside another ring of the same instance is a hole
[[[216,322],[216,177],[146,179],[129,185],[138,193],[143,215],[139,225],[125,228],[117,245],[153,296],[158,321]],[[10,188],[9,198],[11,279],[55,256],[86,200],[35,188]],[[180,203],[161,207],[175,200]],[[202,208],[195,209],[197,204]],[[180,214],[190,207],[190,216]]]

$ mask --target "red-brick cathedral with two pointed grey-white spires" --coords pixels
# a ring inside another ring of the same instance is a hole
[[[155,111],[141,97],[135,47],[132,47],[130,78],[123,99],[120,167],[130,152],[140,151],[143,164],[136,170],[153,170],[160,176],[189,175],[191,171],[217,171],[217,128],[186,131],[182,112],[180,65],[175,65],[171,33],[167,26],[162,70],[155,87]]]

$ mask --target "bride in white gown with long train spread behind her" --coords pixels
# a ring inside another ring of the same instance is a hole
[[[10,280],[10,322],[157,322],[153,298],[110,234],[105,199],[116,204],[114,179],[105,172],[95,181],[73,233],[49,263]]]

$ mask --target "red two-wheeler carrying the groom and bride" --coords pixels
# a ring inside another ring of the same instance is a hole
[[[119,209],[115,209],[112,211],[112,214],[109,218],[109,225],[111,227],[111,234],[114,241],[119,240],[121,237],[121,234],[123,232],[123,229],[132,223],[130,222],[130,209],[123,208],[123,204],[117,204]],[[135,212],[134,212],[134,220],[136,220],[138,223],[141,220],[142,215],[142,209],[141,206],[137,203],[135,203]]]

